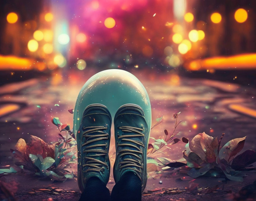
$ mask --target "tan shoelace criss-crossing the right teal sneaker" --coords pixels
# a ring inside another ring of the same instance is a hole
[[[133,133],[135,133],[135,134],[132,134],[132,135],[118,136],[118,138],[122,138],[121,141],[133,142],[136,145],[145,147],[145,145],[140,141],[127,139],[129,137],[144,137],[145,135],[141,132],[141,131],[143,131],[142,128],[136,128],[136,127],[131,127],[131,126],[120,126],[119,129],[122,129],[123,132],[133,132]],[[140,174],[142,173],[141,168],[143,168],[143,166],[142,166],[143,152],[136,145],[128,144],[128,143],[118,144],[118,146],[131,146],[131,147],[134,147],[134,148],[138,149],[138,150],[131,150],[131,149],[120,150],[118,152],[118,154],[120,154],[120,157],[129,154],[129,155],[133,155],[133,156],[135,156],[139,159],[139,160],[134,160],[134,159],[131,159],[131,158],[125,158],[125,159],[123,159],[123,161],[118,163],[118,166],[120,165],[120,167],[119,167],[120,169],[125,168],[124,170],[126,170],[126,169],[135,170],[136,171],[135,173],[141,179]],[[141,154],[142,157],[140,157],[139,154]],[[138,169],[133,168],[133,167],[137,167]]]

